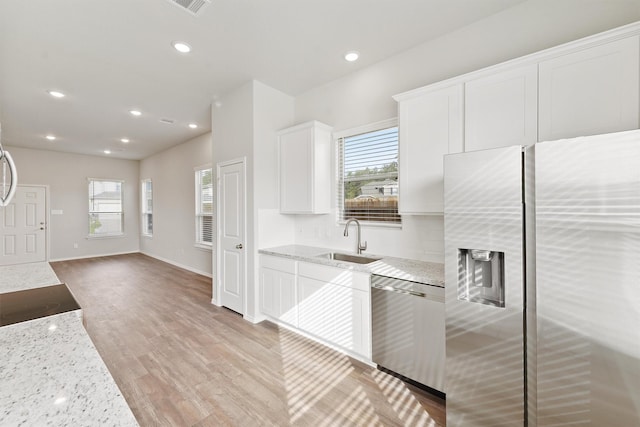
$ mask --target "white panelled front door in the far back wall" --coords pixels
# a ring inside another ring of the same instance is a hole
[[[19,185],[0,207],[0,265],[47,260],[45,197],[45,187]]]

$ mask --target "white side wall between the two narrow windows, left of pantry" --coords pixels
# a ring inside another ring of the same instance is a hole
[[[140,161],[140,182],[153,183],[153,236],[140,251],[211,277],[211,250],[195,247],[194,168],[211,164],[211,133]]]

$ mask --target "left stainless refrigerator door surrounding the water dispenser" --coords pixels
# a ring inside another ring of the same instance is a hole
[[[447,426],[524,424],[520,146],[445,156]],[[504,307],[458,299],[459,250],[504,253]]]

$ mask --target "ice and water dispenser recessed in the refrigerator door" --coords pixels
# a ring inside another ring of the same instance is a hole
[[[504,307],[504,252],[458,249],[458,299]]]

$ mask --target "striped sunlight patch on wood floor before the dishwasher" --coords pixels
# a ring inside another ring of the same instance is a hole
[[[359,375],[356,369],[361,368],[346,355],[320,344],[309,345],[306,338],[286,330],[280,331],[280,346],[291,424],[381,426],[389,421],[389,415],[395,415],[392,419],[397,425],[438,425],[401,380],[378,370],[363,373],[370,375],[382,392],[385,408],[380,408],[380,400],[372,402],[365,388],[357,385],[353,375]],[[342,382],[353,382],[354,386],[338,387]],[[385,420],[380,418],[380,410],[386,413]]]

